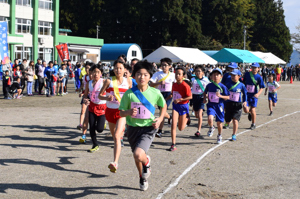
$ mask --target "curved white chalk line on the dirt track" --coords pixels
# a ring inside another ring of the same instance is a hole
[[[261,125],[257,126],[256,128],[260,128],[260,127],[265,126],[265,125],[267,125],[267,124],[269,124],[269,123],[271,123],[271,122],[275,122],[275,121],[277,121],[277,120],[280,120],[280,119],[282,119],[282,118],[285,118],[285,117],[294,115],[294,114],[296,114],[296,113],[300,113],[300,111],[295,111],[295,112],[293,112],[293,113],[289,113],[289,114],[286,114],[286,115],[281,116],[281,117],[279,117],[279,118],[273,119],[273,120],[271,120],[271,121],[268,121],[268,122],[266,122],[266,123],[264,123],[264,124],[261,124]],[[252,130],[249,129],[249,130],[242,131],[242,132],[236,134],[236,136],[242,135],[242,134],[244,134],[244,133],[246,133],[246,132],[249,132],[249,131],[252,131]],[[191,164],[188,168],[186,168],[186,169],[184,170],[184,172],[183,172],[178,178],[176,178],[176,180],[175,180],[173,183],[171,183],[171,184],[168,186],[167,189],[165,189],[162,193],[160,193],[160,194],[157,196],[156,199],[161,199],[166,193],[168,193],[171,189],[173,189],[174,187],[176,187],[176,186],[178,185],[179,181],[180,181],[180,180],[181,180],[188,172],[190,172],[197,164],[199,164],[199,163],[201,162],[202,159],[204,159],[208,154],[210,154],[212,151],[214,151],[214,150],[217,149],[218,147],[220,147],[220,146],[222,146],[223,144],[227,143],[230,139],[231,139],[231,137],[228,138],[227,140],[225,140],[224,142],[222,142],[221,144],[218,144],[218,145],[212,147],[211,149],[209,149],[208,151],[206,151],[202,156],[200,156],[200,157],[196,160],[196,162],[194,162],[194,163]]]

